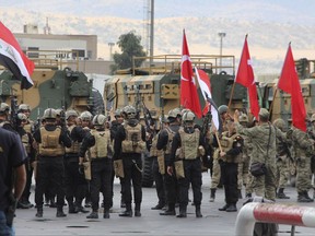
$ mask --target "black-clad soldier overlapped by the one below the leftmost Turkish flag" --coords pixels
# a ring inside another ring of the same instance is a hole
[[[164,151],[164,165],[166,168],[166,163],[170,163],[170,155],[172,149],[172,141],[176,132],[178,132],[180,128],[180,110],[175,108],[168,111],[168,126],[164,128],[159,134],[156,149],[158,151]],[[176,198],[178,197],[178,186],[177,179],[175,175],[168,175],[165,170],[163,175],[163,180],[165,185],[166,199],[165,203],[167,203],[167,209],[164,212],[161,212],[160,215],[176,215],[175,212],[175,203]]]

